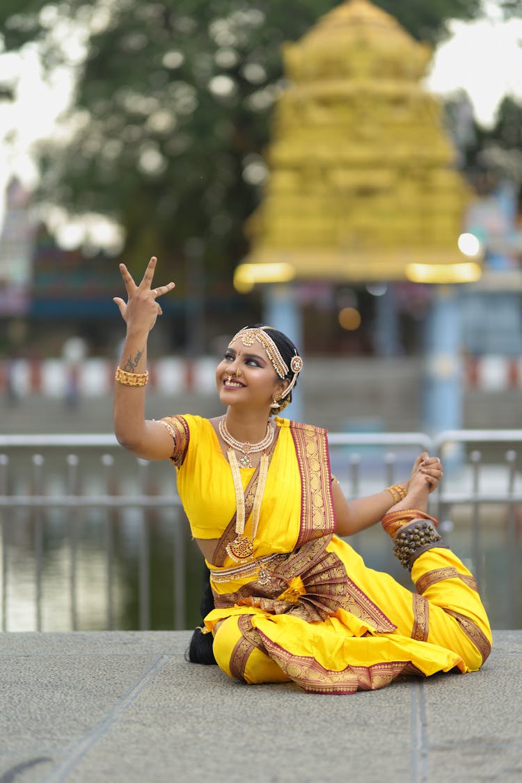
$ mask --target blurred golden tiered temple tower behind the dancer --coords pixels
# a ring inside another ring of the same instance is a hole
[[[470,267],[457,247],[470,191],[441,106],[420,83],[430,48],[369,0],[350,0],[283,56],[290,86],[275,106],[270,174],[236,286]]]

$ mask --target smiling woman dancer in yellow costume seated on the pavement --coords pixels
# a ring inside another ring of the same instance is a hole
[[[161,313],[152,258],[139,285],[122,264],[127,325],[114,390],[118,441],[171,460],[190,529],[210,572],[211,605],[191,659],[247,683],[348,694],[401,675],[479,669],[491,630],[477,584],[445,546],[428,495],[442,466],[420,454],[409,479],[347,501],[331,474],[326,431],[276,416],[303,369],[272,327],[243,327],[216,369],[225,414],[146,420],[146,348]],[[344,537],[381,521],[411,570],[412,590],[367,568]]]

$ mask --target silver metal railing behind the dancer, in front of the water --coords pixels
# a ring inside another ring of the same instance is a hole
[[[459,516],[459,510],[466,512],[466,524],[471,532],[469,560],[479,586],[483,586],[482,517],[485,509],[495,508],[495,518],[500,514],[505,528],[505,592],[507,604],[511,604],[508,611],[513,617],[517,615],[522,430],[447,431],[436,438],[423,433],[352,435],[337,432],[329,434],[329,444],[333,472],[350,497],[373,493],[383,485],[405,478],[406,466],[419,451],[427,450],[441,456],[449,465],[446,473],[453,467],[455,478],[445,478],[436,497],[430,501],[433,506],[430,511],[441,519],[446,536],[455,532],[452,521],[455,514]],[[92,514],[98,514],[95,521]],[[159,524],[163,525],[160,546],[171,547],[172,554],[170,626],[186,627],[185,588],[187,570],[192,568],[193,547],[170,464],[137,460],[121,449],[113,435],[0,436],[0,519],[2,630],[12,630],[12,626],[13,630],[27,630],[20,627],[23,623],[19,618],[12,616],[13,612],[22,611],[11,608],[11,604],[23,604],[16,603],[20,582],[25,583],[26,588],[27,583],[32,582],[29,601],[32,627],[36,630],[52,627],[52,622],[44,618],[44,566],[49,551],[56,553],[57,550],[62,556],[67,555],[67,573],[63,574],[61,582],[61,590],[67,594],[67,610],[59,611],[62,615],[66,612],[67,627],[73,630],[81,627],[78,580],[83,567],[80,533],[85,524],[95,525],[98,530],[95,545],[91,542],[90,546],[103,559],[103,567],[99,558],[96,559],[97,578],[104,583],[101,598],[104,607],[98,612],[96,626],[107,629],[117,626],[115,584],[119,582],[115,533],[125,526],[131,529],[129,536],[137,570],[135,627],[148,629],[155,625],[151,620],[153,560],[150,549],[151,529]],[[55,536],[55,550],[52,550],[49,530],[56,532],[57,528],[61,530],[57,536],[59,543]],[[23,535],[19,536],[22,530]],[[485,532],[488,532],[487,525]],[[92,593],[95,589],[99,592],[99,584],[93,578]],[[193,598],[196,603],[199,589],[200,583],[196,586],[196,598]],[[27,600],[23,611],[27,614]]]

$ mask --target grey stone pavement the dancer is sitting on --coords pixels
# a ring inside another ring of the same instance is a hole
[[[522,630],[480,672],[381,691],[247,686],[189,631],[0,636],[0,783],[522,780]]]

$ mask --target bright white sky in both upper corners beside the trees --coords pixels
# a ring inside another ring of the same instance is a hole
[[[452,37],[435,52],[426,85],[441,96],[465,90],[477,120],[490,125],[503,96],[522,99],[522,20],[502,22],[495,2],[486,5],[487,19],[452,21]],[[78,38],[76,52],[81,43]],[[18,74],[16,103],[0,103],[1,224],[6,182],[13,174],[27,186],[36,182],[31,147],[56,135],[56,120],[67,109],[72,85],[67,70],[57,70],[52,83],[45,83],[31,47],[26,47],[23,56],[0,55],[0,74]]]

